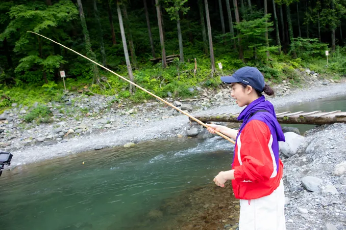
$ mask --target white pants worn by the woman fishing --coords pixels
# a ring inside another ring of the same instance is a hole
[[[285,230],[285,193],[282,180],[270,195],[240,199],[239,230]]]

